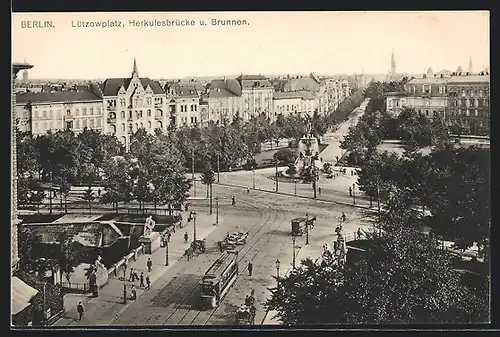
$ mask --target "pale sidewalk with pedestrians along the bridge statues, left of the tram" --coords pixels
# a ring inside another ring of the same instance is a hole
[[[185,217],[187,218],[187,216]],[[219,221],[221,222],[221,221]],[[213,225],[213,216],[198,214],[196,220],[196,238],[198,240],[206,238],[218,226]],[[184,233],[189,235],[189,243],[184,243]],[[117,277],[111,277],[109,282],[99,289],[99,297],[92,298],[89,295],[67,294],[64,298],[64,307],[66,313],[57,320],[54,326],[81,326],[81,325],[108,325],[116,317],[118,317],[127,307],[133,303],[130,300],[130,288],[132,282],[128,282],[130,268],[134,268],[138,274],[144,272],[144,277],[148,275],[146,262],[151,258],[153,269],[149,273],[151,284],[161,278],[177,261],[179,261],[185,250],[189,247],[193,239],[193,222],[185,222],[184,228],[177,229],[176,233],[172,234],[169,243],[169,265],[165,266],[165,248],[157,249],[153,254],[141,254],[136,261],[132,261],[128,265],[127,281],[123,281],[123,269],[120,269]],[[123,304],[123,285],[127,287],[127,305]],[[135,282],[137,289],[137,297],[141,296],[146,290],[139,287],[139,282]],[[78,314],[76,306],[82,301],[85,308],[85,313],[81,322],[77,321]]]

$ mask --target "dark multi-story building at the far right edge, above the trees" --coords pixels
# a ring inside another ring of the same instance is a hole
[[[489,74],[452,76],[447,83],[446,123],[466,133],[488,135],[490,128]]]

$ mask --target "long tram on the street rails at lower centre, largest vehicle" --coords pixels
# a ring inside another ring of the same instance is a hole
[[[203,308],[215,308],[238,277],[238,252],[228,250],[206,271],[201,281]]]

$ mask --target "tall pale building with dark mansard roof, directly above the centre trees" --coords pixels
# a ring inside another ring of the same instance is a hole
[[[262,75],[241,75],[236,80],[241,87],[243,120],[260,114],[272,120],[274,87],[271,82]]]

